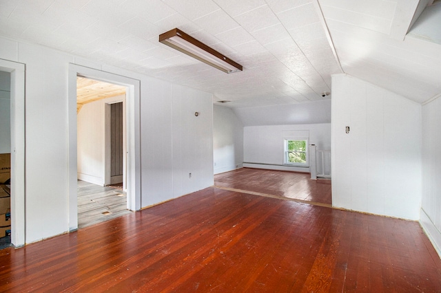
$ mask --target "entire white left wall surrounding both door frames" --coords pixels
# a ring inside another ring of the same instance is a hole
[[[69,230],[69,63],[140,80],[142,206],[213,184],[212,94],[9,39],[0,58],[26,67],[26,243]]]

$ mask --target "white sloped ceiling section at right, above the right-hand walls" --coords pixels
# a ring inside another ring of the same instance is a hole
[[[441,93],[441,45],[405,35],[418,1],[320,4],[345,73],[420,103]]]

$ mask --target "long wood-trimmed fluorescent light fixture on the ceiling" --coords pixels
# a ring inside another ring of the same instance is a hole
[[[208,65],[211,65],[223,72],[234,73],[243,70],[242,65],[232,61],[230,58],[220,54],[211,47],[185,34],[182,30],[174,28],[159,35],[159,41],[169,47],[172,47],[188,56],[198,59]]]

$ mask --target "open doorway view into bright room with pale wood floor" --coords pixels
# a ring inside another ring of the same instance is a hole
[[[78,228],[127,209],[126,87],[77,76]]]

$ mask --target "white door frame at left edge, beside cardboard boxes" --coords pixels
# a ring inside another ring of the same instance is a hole
[[[11,243],[25,245],[25,65],[0,59],[11,74]]]

